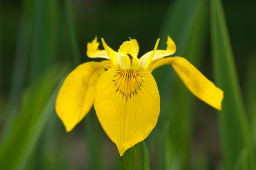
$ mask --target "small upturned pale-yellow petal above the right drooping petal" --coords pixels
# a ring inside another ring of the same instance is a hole
[[[168,36],[166,43],[167,43],[166,50],[157,50],[154,53],[154,57],[152,58],[152,61],[156,60],[157,58],[162,58],[162,57],[173,55],[176,52],[176,46],[171,37]],[[145,67],[145,64],[146,64],[148,58],[150,57],[150,55],[152,55],[153,52],[154,51],[147,52],[140,58],[141,66]]]

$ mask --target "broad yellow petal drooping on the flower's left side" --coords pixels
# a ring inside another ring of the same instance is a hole
[[[56,99],[58,117],[70,132],[90,111],[96,83],[111,61],[87,62],[79,65],[65,79]]]

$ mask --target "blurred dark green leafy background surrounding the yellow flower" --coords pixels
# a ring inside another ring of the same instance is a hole
[[[173,56],[224,91],[223,110],[193,96],[172,66],[152,72],[161,111],[145,139],[151,170],[255,170],[255,9],[255,0],[0,1],[0,169],[121,169],[93,108],[65,132],[58,89],[76,66],[95,61],[86,50],[96,35],[115,51],[137,39],[139,57],[157,38],[165,49],[169,35]]]

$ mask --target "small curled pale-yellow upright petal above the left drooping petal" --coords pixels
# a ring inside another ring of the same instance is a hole
[[[97,36],[91,43],[87,43],[87,56],[90,58],[106,58],[109,59],[106,50],[99,50],[99,43],[97,42]]]

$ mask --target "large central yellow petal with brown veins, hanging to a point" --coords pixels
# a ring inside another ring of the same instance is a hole
[[[143,141],[157,123],[160,97],[157,84],[143,67],[106,71],[95,90],[94,107],[103,129],[120,155]]]

